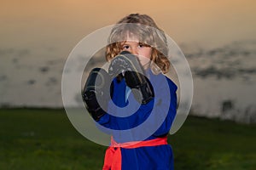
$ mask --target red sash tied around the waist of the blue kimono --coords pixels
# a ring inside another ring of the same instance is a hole
[[[102,170],[121,170],[122,167],[122,154],[120,148],[132,149],[139,148],[143,146],[157,146],[167,144],[167,137],[151,139],[146,141],[137,142],[126,142],[122,144],[116,143],[113,138],[111,138],[111,145],[106,150],[104,165]]]

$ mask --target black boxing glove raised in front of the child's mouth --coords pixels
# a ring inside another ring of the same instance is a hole
[[[143,75],[143,67],[137,60],[137,56],[123,51],[114,57],[108,68],[108,74],[111,77],[122,75],[125,77],[125,83],[129,88],[136,88],[140,94],[135,94],[135,98],[142,104],[154,98],[154,90],[148,78]]]

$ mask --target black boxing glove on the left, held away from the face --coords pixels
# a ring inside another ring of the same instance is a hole
[[[108,72],[101,68],[94,68],[90,71],[90,74],[85,82],[84,91],[82,97],[84,99],[86,109],[89,111],[90,116],[97,122],[99,119],[106,114],[109,95],[109,84],[110,77]],[[102,105],[99,105],[97,99],[101,99]]]

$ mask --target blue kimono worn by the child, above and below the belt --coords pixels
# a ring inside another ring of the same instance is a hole
[[[154,87],[154,99],[146,105],[137,102],[125,79],[113,79],[113,103],[98,123],[110,129],[106,133],[111,133],[117,143],[162,138],[170,131],[176,116],[177,86],[163,74],[154,75],[150,69],[147,74]],[[120,150],[122,170],[173,169],[169,144]]]

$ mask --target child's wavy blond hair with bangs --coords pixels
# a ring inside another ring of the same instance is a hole
[[[169,71],[171,64],[166,57],[168,56],[168,48],[165,33],[156,26],[154,20],[147,14],[129,14],[113,26],[106,48],[108,61],[122,51],[122,45],[127,35],[137,37],[140,43],[152,48],[152,65],[150,68],[155,74],[160,73],[160,71],[163,73]]]

